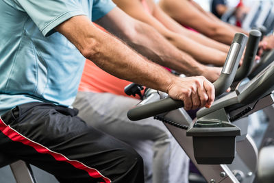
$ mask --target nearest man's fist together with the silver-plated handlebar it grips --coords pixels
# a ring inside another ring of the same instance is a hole
[[[170,97],[142,106],[138,104],[127,112],[127,117],[132,121],[137,121],[184,106],[186,110],[203,106],[210,107],[214,96],[221,95],[232,84],[246,43],[245,34],[235,34],[221,75],[213,85],[205,77],[177,77],[168,88],[167,93]]]

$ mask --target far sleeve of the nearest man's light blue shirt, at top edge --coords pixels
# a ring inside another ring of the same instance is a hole
[[[96,21],[108,14],[116,5],[111,0],[94,0],[92,7],[92,21]]]

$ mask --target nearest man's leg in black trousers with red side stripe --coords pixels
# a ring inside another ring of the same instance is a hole
[[[0,119],[0,149],[60,182],[143,182],[142,158],[76,117],[77,110],[27,103]]]

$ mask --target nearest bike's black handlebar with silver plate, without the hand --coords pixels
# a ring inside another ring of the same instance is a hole
[[[221,75],[218,80],[213,83],[215,88],[215,95],[221,95],[232,84],[246,43],[247,36],[245,36],[245,34],[235,34]],[[145,105],[137,105],[127,112],[127,117],[132,121],[137,121],[182,107],[184,107],[183,101],[167,97],[159,101],[146,103]]]

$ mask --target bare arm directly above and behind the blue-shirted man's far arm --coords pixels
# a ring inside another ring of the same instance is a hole
[[[190,54],[193,58],[195,58],[195,60],[198,60],[204,64],[215,64],[218,66],[222,66],[225,62],[225,52],[206,47],[199,44],[198,42],[191,40],[190,38],[187,38],[186,36],[171,32],[151,14],[147,13],[142,7],[140,1],[116,0],[114,2],[130,16],[133,16],[135,19],[145,22],[157,29],[158,32],[160,32],[162,36],[169,40],[169,42],[175,45],[175,47],[182,51],[186,51],[186,53]],[[149,34],[149,32],[144,33]]]

